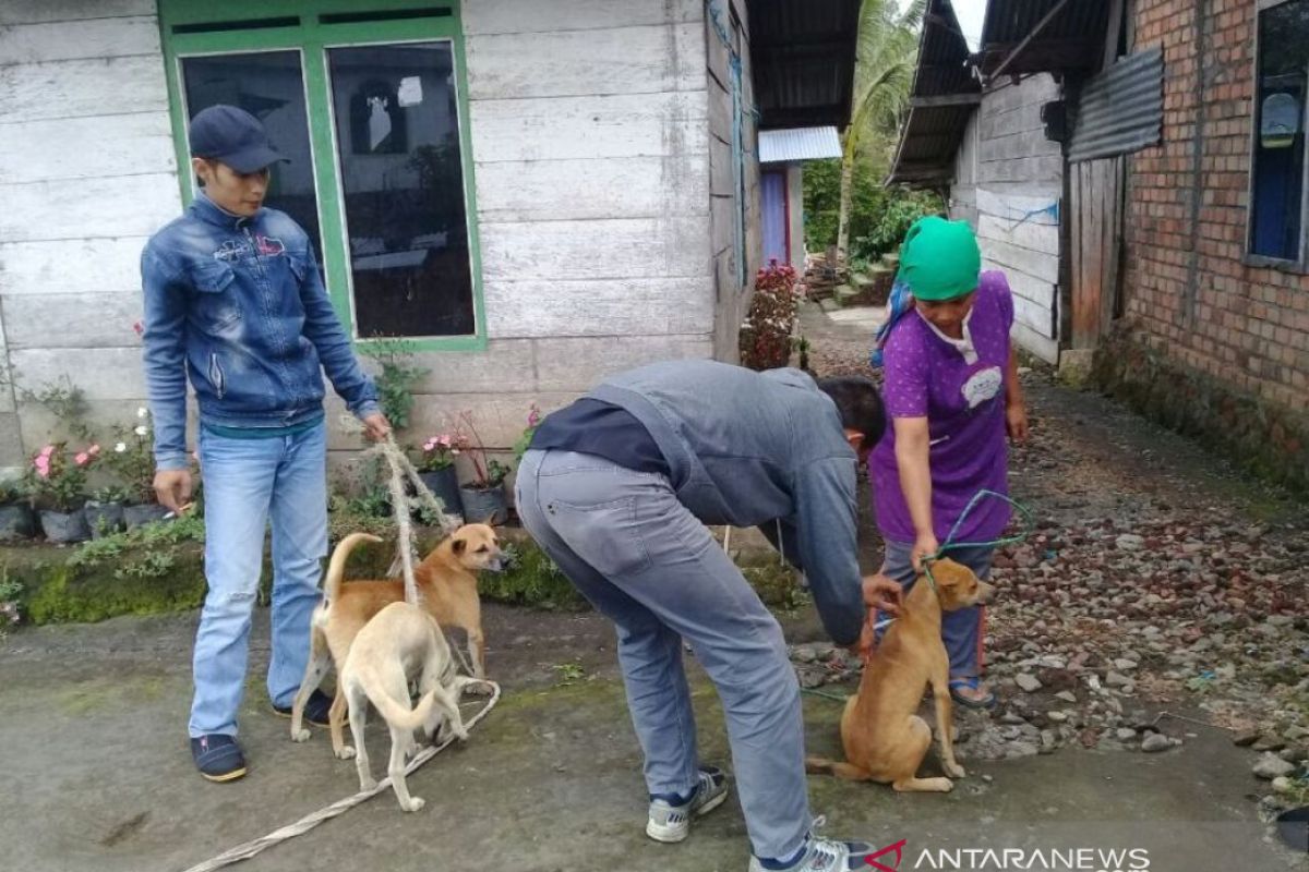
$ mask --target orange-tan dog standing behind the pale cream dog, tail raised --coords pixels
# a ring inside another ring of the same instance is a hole
[[[304,728],[305,703],[322,684],[327,669],[335,663],[338,669],[346,663],[351,642],[368,621],[391,603],[404,601],[404,582],[351,582],[342,584],[342,574],[351,550],[361,543],[380,543],[369,533],[351,533],[336,545],[327,574],[323,577],[323,601],[314,609],[310,624],[309,663],[300,692],[291,707],[291,739],[306,741]],[[431,554],[414,567],[423,607],[441,626],[457,626],[469,637],[473,655],[473,675],[486,677],[486,641],[482,635],[482,600],[478,597],[478,577],[482,570],[500,571],[504,552],[495,529],[487,524],[465,524],[445,539]],[[329,715],[331,746],[336,757],[347,760],[346,698],[336,694]]]

